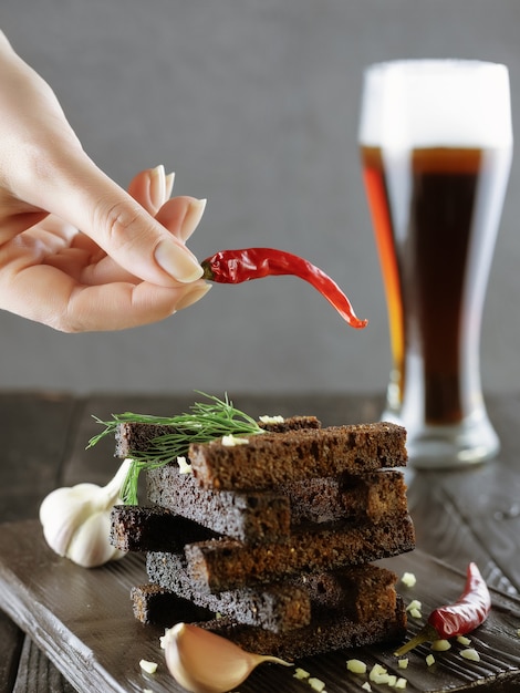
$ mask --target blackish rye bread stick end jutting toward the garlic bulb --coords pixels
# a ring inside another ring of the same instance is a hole
[[[121,551],[181,551],[185,544],[219,535],[158,506],[116,505],[111,510],[110,541]]]

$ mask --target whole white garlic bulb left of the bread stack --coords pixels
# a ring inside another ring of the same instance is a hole
[[[110,542],[112,506],[131,465],[125,459],[106,486],[77,484],[56,488],[40,506],[43,536],[51,549],[84,568],[96,568],[125,554]]]

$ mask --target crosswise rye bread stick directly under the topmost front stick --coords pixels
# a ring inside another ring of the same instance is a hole
[[[200,488],[193,474],[180,474],[177,464],[150,469],[149,503],[169,508],[216,532],[261,544],[289,537],[289,498],[281,493],[215,492]]]

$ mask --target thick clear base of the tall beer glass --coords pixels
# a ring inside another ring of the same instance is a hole
[[[416,422],[407,425],[387,407],[381,420],[406,428],[408,465],[417,469],[457,469],[492,459],[500,451],[500,441],[486,412],[468,416],[457,425],[418,426]]]

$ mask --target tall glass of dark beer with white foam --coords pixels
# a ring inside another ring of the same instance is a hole
[[[512,156],[505,65],[370,66],[360,143],[388,310],[393,366],[382,418],[410,464],[493,457],[480,383],[482,306]]]

